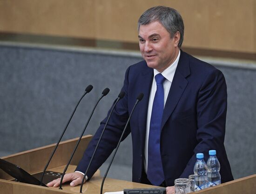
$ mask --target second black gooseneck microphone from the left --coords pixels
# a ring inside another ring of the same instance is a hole
[[[86,125],[85,125],[85,127],[84,127],[84,129],[83,129],[83,131],[82,131],[82,133],[81,133],[81,135],[80,135],[80,137],[79,137],[79,140],[77,141],[77,143],[76,143],[76,145],[75,145],[75,147],[74,147],[73,153],[71,154],[71,157],[70,157],[69,161],[67,162],[67,165],[66,165],[66,167],[65,167],[65,169],[64,169],[64,171],[63,171],[63,174],[62,174],[62,176],[61,176],[61,182],[60,182],[60,187],[59,187],[59,189],[62,189],[62,181],[63,181],[63,177],[64,177],[64,175],[65,175],[65,173],[66,173],[66,171],[67,171],[67,167],[68,167],[68,165],[70,164],[70,162],[71,162],[71,160],[72,160],[72,158],[73,158],[73,156],[74,156],[74,153],[75,153],[75,151],[76,151],[76,149],[77,149],[77,147],[78,147],[78,145],[79,145],[79,143],[80,143],[80,141],[81,141],[81,139],[82,139],[82,136],[83,136],[83,134],[84,134],[84,132],[85,132],[85,129],[86,129],[87,126],[88,126],[89,121],[91,120],[91,117],[92,117],[92,115],[93,115],[93,113],[94,113],[94,110],[95,110],[96,106],[98,105],[99,101],[100,101],[104,96],[106,96],[106,95],[108,94],[108,92],[109,92],[109,89],[108,89],[108,87],[106,87],[106,88],[103,90],[103,92],[102,92],[102,94],[101,94],[101,97],[99,98],[99,100],[98,100],[97,103],[95,104],[95,106],[94,106],[94,108],[93,108],[93,110],[92,110],[92,112],[91,112],[91,114],[90,114],[90,116],[89,116],[89,118],[88,118],[88,120],[87,120],[87,123],[86,123]]]

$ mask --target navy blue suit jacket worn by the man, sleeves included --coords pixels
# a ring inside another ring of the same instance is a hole
[[[115,149],[138,94],[144,98],[131,117],[128,134],[132,135],[133,181],[141,182],[148,99],[153,80],[153,69],[141,61],[128,67],[122,90],[126,93],[109,120],[95,154],[88,177],[101,166]],[[193,173],[196,153],[215,149],[221,164],[222,182],[233,180],[224,148],[227,112],[227,88],[223,74],[215,67],[182,52],[164,107],[161,128],[162,166],[167,186],[177,178],[188,178]],[[85,172],[105,120],[88,145],[76,170]]]

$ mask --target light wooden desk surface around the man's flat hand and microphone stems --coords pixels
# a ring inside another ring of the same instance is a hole
[[[63,172],[65,166],[54,167],[48,170],[54,172]],[[70,165],[67,168],[67,173],[74,172],[76,166]],[[100,194],[101,191],[100,171],[98,170],[94,176],[83,185],[82,193],[84,194]],[[145,184],[116,180],[106,178],[103,193],[122,191],[124,188],[149,188],[155,186],[149,186]],[[80,185],[76,187],[70,187],[69,184],[63,184],[62,190],[59,187],[41,187],[37,185],[30,185],[26,183],[14,182],[11,180],[0,179],[0,194],[77,194],[80,193]]]

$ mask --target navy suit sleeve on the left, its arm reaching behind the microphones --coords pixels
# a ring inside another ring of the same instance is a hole
[[[125,92],[125,96],[116,104],[115,109],[113,110],[113,113],[108,121],[108,126],[106,127],[104,134],[102,135],[101,142],[94,155],[94,159],[91,163],[91,166],[88,170],[88,174],[87,174],[88,179],[90,179],[93,176],[96,170],[99,167],[101,167],[101,165],[108,159],[108,156],[115,149],[121,137],[122,131],[125,127],[125,124],[128,120],[128,105],[127,105],[128,73],[129,73],[129,68],[126,71],[124,85],[121,89],[122,91]],[[110,113],[110,110],[108,111],[108,115]],[[101,125],[97,129],[93,139],[90,141],[86,151],[84,152],[83,157],[76,168],[76,171],[85,173],[88,167],[89,161],[94,153],[94,149],[97,145],[97,142],[100,139],[101,132],[105,126],[107,118],[108,116],[103,121],[101,121]],[[126,133],[124,134],[123,140],[128,136],[129,133],[130,133],[130,129],[128,127],[126,130]]]

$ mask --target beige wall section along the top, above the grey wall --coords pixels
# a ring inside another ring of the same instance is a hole
[[[155,5],[182,14],[185,47],[256,54],[256,0],[0,0],[0,32],[137,42]]]

